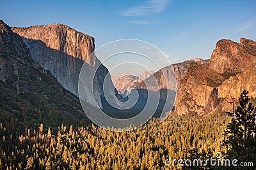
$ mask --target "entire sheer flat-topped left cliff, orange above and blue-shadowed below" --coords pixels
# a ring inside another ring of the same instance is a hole
[[[13,27],[12,30],[22,36],[32,58],[44,69],[51,71],[61,85],[76,96],[78,96],[79,73],[86,62],[86,71],[90,77],[95,77],[95,80],[93,92],[88,92],[85,100],[93,105],[98,104],[102,108],[101,99],[104,96],[102,84],[108,69],[101,65],[97,75],[91,75],[92,70],[100,65],[97,57],[90,55],[95,50],[94,39],[91,36],[61,24]],[[109,88],[113,88],[111,79],[108,82]],[[90,83],[92,82],[88,81],[87,85],[90,86]],[[94,97],[97,103],[94,102]]]

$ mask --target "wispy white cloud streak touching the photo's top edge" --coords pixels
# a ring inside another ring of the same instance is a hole
[[[141,6],[132,6],[122,11],[124,16],[140,16],[148,13],[161,13],[170,0],[150,0],[146,1]]]

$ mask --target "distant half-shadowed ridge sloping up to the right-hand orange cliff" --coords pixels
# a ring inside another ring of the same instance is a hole
[[[164,104],[173,104],[175,94],[177,90],[179,91],[179,83],[186,75],[189,65],[193,63],[205,65],[208,61],[209,60],[200,58],[186,60],[184,62],[172,64],[171,66],[163,67],[144,81],[139,81],[139,83],[136,81],[137,85],[134,89],[138,90],[141,95],[139,102],[145,103],[145,101],[147,101],[147,92],[150,91],[153,93],[160,93],[160,101],[155,101],[156,103],[159,103],[159,108],[157,108],[157,110],[161,110]],[[138,80],[138,77],[136,80]],[[132,82],[134,81],[132,80]],[[170,111],[170,109],[172,108],[166,107],[166,110],[164,111]]]

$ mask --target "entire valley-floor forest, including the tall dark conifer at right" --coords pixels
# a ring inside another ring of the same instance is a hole
[[[207,116],[151,118],[132,131],[86,127],[25,127],[13,133],[0,124],[0,169],[234,169],[230,166],[166,164],[166,159],[256,160],[255,100],[243,91],[236,110]],[[10,125],[9,125],[10,127]],[[217,155],[219,154],[219,155]],[[238,161],[237,160],[237,161]]]

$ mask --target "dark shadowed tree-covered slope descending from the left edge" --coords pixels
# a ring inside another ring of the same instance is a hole
[[[3,20],[0,20],[0,106],[0,122],[12,132],[24,126],[38,127],[42,122],[53,127],[89,122],[79,99],[31,58],[22,38]]]

